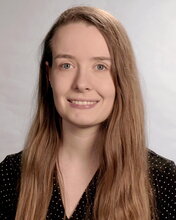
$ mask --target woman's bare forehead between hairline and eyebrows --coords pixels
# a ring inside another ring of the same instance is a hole
[[[91,24],[70,23],[60,27],[52,39],[52,52],[110,56],[101,32]]]

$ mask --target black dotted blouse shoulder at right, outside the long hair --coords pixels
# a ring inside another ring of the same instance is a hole
[[[148,161],[159,217],[176,219],[176,165],[151,150],[148,152]]]

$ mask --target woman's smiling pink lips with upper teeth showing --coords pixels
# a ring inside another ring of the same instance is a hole
[[[92,100],[68,100],[70,105],[74,108],[79,109],[88,109],[94,107],[99,101],[92,101]]]

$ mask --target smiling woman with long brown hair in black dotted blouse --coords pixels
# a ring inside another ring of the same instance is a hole
[[[146,148],[134,55],[92,7],[59,17],[43,43],[26,146],[1,163],[2,219],[175,219],[176,168]]]

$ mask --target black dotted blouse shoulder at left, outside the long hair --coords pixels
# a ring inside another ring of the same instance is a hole
[[[11,154],[0,163],[0,219],[13,219],[15,215],[22,152]]]

